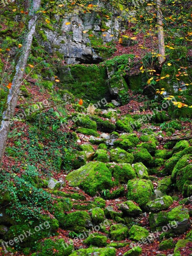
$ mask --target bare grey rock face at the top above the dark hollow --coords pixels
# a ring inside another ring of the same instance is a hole
[[[99,0],[94,2],[100,8],[111,8],[111,6],[107,6],[107,3],[104,5]],[[44,28],[47,40],[44,40],[42,44],[50,54],[58,51],[64,56],[67,64],[101,62],[102,56],[93,49],[93,39],[98,40],[101,45],[104,44],[105,46],[107,42],[116,38],[116,33],[120,28],[120,20],[118,18],[113,19],[111,23],[111,20],[102,20],[96,12],[87,12],[85,14],[82,12],[79,15],[79,10],[77,9],[61,19],[60,16],[55,15],[57,26],[54,29]],[[68,24],[69,22],[70,24]],[[104,26],[106,29],[105,37],[101,34]],[[114,37],[110,37],[112,34]],[[92,38],[89,35],[94,35],[94,37]]]

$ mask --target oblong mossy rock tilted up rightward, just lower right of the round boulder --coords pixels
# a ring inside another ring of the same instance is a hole
[[[161,198],[157,198],[154,201],[150,201],[146,204],[149,212],[160,212],[168,209],[173,203],[172,197],[164,195]]]

